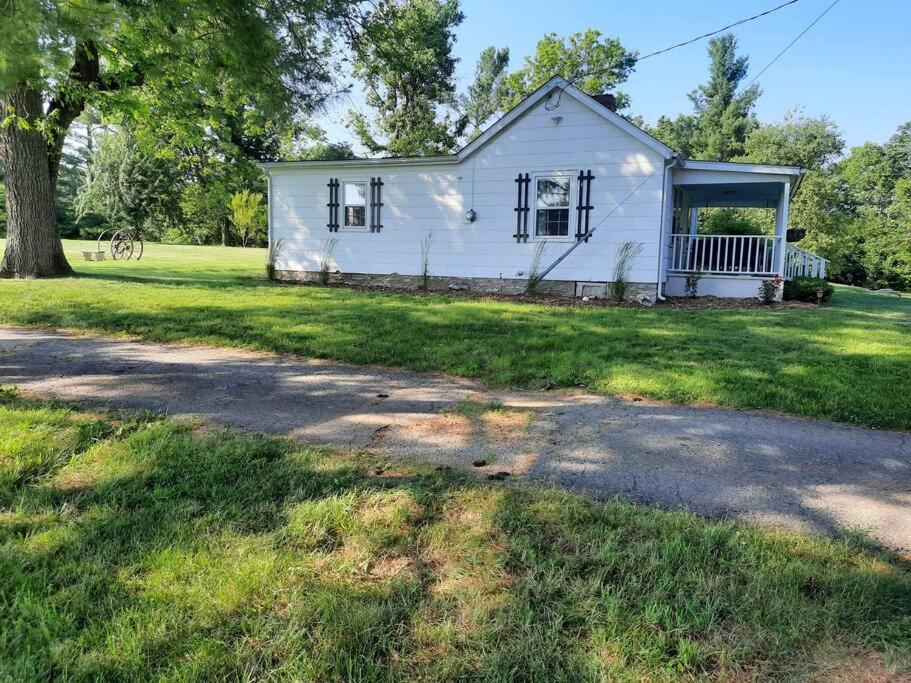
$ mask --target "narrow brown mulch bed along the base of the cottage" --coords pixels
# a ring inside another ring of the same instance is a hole
[[[295,284],[310,287],[323,286],[312,282],[289,282],[279,284]],[[467,290],[438,292],[407,289],[404,287],[384,287],[375,284],[355,284],[341,282],[332,282],[325,286],[331,287],[333,289],[353,289],[359,292],[407,294],[409,296],[426,298],[445,297],[448,299],[472,299],[475,301],[506,301],[510,303],[539,304],[544,306],[564,306],[567,308],[646,308],[645,306],[642,306],[635,301],[624,301],[620,303],[611,301],[610,299],[589,299],[588,301],[583,301],[580,297],[556,296],[549,294],[491,294],[483,292],[471,292]],[[667,297],[664,301],[656,302],[653,308],[673,308],[677,310],[706,311],[722,310],[728,308],[816,308],[816,304],[806,303],[802,301],[780,301],[772,304],[771,306],[768,306],[766,304],[763,304],[759,299],[736,299],[717,296],[700,296],[695,298],[674,296]]]

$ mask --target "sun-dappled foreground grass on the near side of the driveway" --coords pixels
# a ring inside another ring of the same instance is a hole
[[[911,572],[862,538],[0,391],[3,680],[885,680],[909,655]]]

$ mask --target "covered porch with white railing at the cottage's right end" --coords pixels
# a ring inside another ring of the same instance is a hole
[[[674,169],[673,218],[665,244],[667,292],[682,294],[691,273],[701,274],[701,294],[717,296],[755,296],[758,283],[775,276],[824,278],[824,258],[788,243],[790,199],[802,177],[803,169],[791,166],[686,161]],[[774,233],[700,233],[702,208],[773,210]]]

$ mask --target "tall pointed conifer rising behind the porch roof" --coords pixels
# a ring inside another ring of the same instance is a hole
[[[730,161],[742,156],[746,140],[759,125],[753,107],[758,85],[742,89],[749,58],[737,55],[733,33],[709,40],[709,80],[690,93],[692,114],[661,117],[652,134],[684,157]]]

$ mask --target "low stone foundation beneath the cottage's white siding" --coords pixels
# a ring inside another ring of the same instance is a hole
[[[275,279],[281,282],[318,282],[319,273],[303,270],[277,270]],[[423,278],[419,275],[373,275],[366,273],[330,273],[329,282],[332,284],[370,285],[375,287],[388,287],[390,289],[404,289],[417,291],[423,286]],[[432,292],[447,292],[458,288],[462,291],[476,294],[522,294],[528,280],[524,278],[496,278],[496,277],[439,277],[431,275],[427,278],[428,289]],[[590,296],[604,298],[607,296],[607,282],[577,282],[575,280],[543,280],[538,284],[537,294],[551,296]],[[626,298],[635,301],[640,294],[645,294],[652,301],[655,300],[657,287],[654,283],[631,282],[627,289]]]

